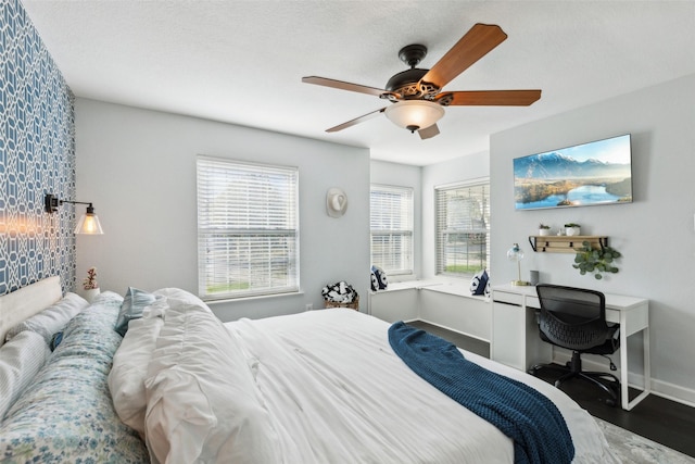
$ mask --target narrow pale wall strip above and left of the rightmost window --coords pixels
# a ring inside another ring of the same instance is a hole
[[[435,216],[434,188],[447,184],[469,181],[490,176],[486,152],[469,154],[444,163],[422,167],[422,276],[435,277]],[[494,212],[494,210],[492,210]],[[470,281],[464,283],[466,286]]]

